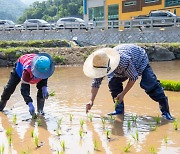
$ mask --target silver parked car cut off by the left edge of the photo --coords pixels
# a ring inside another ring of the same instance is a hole
[[[20,30],[21,28],[21,25],[16,25],[11,20],[0,20],[0,30]]]

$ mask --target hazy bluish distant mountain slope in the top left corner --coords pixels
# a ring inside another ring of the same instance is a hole
[[[27,6],[20,0],[0,0],[0,19],[16,21]]]

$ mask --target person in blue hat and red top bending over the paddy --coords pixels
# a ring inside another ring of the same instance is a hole
[[[44,102],[48,98],[47,81],[53,74],[54,69],[54,62],[47,53],[22,55],[17,60],[9,81],[4,87],[0,99],[0,111],[3,111],[16,86],[21,82],[21,94],[29,106],[31,115],[35,115],[35,108],[30,97],[30,84],[37,84],[37,111],[39,114],[44,115]]]

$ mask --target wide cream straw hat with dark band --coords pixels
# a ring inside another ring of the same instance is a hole
[[[119,53],[112,48],[94,51],[84,62],[84,74],[90,78],[100,78],[112,73],[120,61]]]

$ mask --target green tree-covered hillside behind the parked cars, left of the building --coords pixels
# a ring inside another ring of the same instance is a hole
[[[66,16],[82,17],[83,0],[47,0],[34,2],[27,8],[18,19],[18,23],[23,23],[26,19],[44,19],[55,22],[59,18]]]

